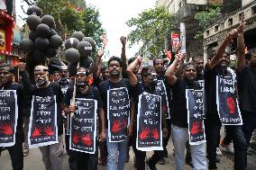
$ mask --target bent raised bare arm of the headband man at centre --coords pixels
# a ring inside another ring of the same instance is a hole
[[[137,76],[133,73],[133,69],[142,62],[142,57],[137,57],[134,59],[134,61],[127,67],[126,69],[126,75],[128,76],[130,80],[131,85],[136,85],[138,83]]]

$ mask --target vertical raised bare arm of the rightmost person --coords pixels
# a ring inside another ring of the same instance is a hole
[[[245,64],[245,44],[244,44],[244,38],[243,38],[243,29],[245,26],[245,22],[242,20],[238,31],[238,37],[237,37],[237,64],[236,64],[236,71],[238,73],[241,73],[243,68],[246,66]]]

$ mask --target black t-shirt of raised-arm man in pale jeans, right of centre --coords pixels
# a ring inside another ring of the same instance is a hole
[[[187,99],[186,89],[198,89],[197,82],[188,84],[185,79],[177,78],[174,85],[171,85],[172,101],[170,106],[171,124],[187,128]]]

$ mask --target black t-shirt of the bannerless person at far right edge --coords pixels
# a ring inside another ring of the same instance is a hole
[[[240,109],[256,113],[256,71],[250,67],[244,67],[237,74],[237,87]]]

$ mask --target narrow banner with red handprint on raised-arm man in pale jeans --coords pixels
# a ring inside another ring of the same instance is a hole
[[[203,90],[186,89],[189,144],[206,143]]]

